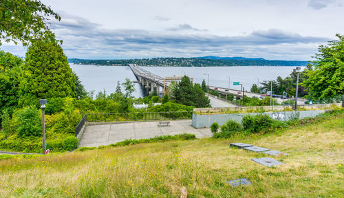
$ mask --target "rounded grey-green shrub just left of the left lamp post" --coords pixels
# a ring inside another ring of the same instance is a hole
[[[34,106],[25,107],[14,113],[14,119],[18,121],[18,134],[20,136],[38,136],[41,135],[41,113]]]

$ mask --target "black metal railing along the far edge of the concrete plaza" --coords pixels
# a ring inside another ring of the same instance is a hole
[[[127,122],[127,121],[153,121],[153,120],[189,120],[192,111],[175,112],[146,112],[146,113],[89,113],[87,122]]]

